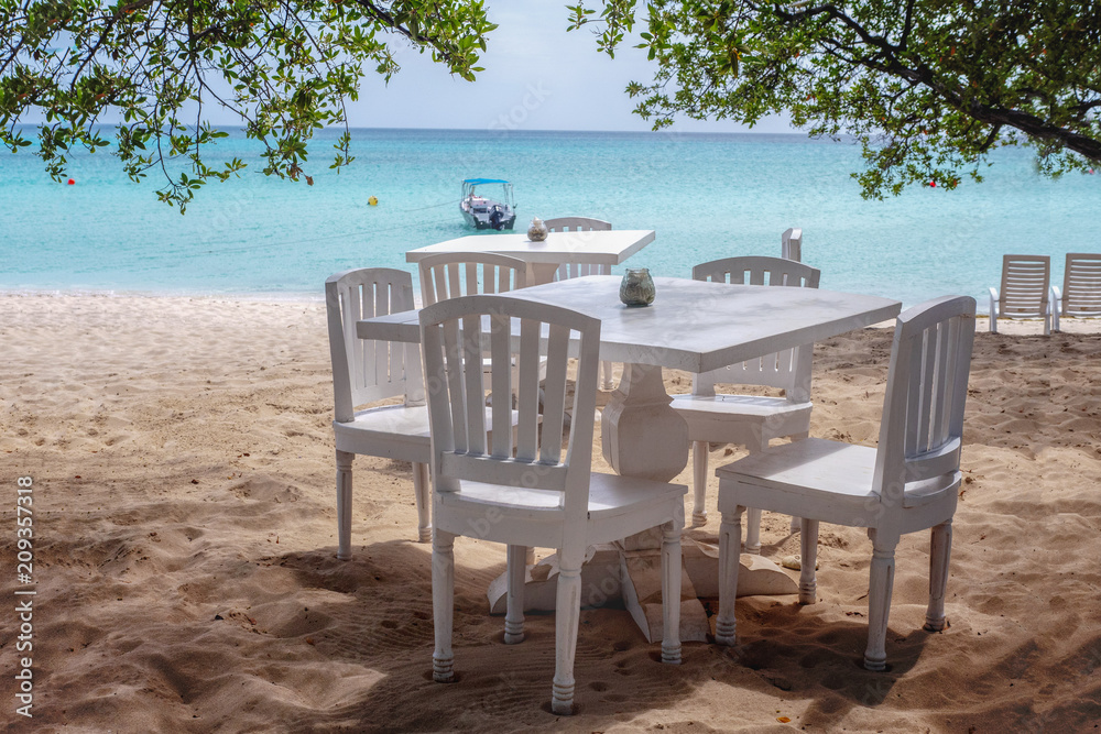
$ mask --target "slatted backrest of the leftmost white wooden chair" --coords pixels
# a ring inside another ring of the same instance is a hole
[[[405,271],[366,267],[338,273],[325,281],[329,354],[336,419],[355,418],[356,406],[396,395],[417,403],[421,357],[416,346],[360,339],[356,321],[407,311],[413,305],[413,278]],[[414,394],[415,393],[415,394]]]

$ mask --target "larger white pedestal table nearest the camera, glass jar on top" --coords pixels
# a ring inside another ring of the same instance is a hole
[[[654,283],[657,297],[653,305],[634,308],[620,303],[620,278],[609,275],[537,285],[509,295],[573,308],[601,320],[600,359],[624,362],[619,387],[601,418],[603,456],[619,474],[657,481],[679,474],[688,463],[689,450],[688,426],[669,406],[672,398],[662,381],[662,368],[707,372],[893,319],[902,309],[900,302],[890,298],[819,288],[669,277],[655,277]],[[364,339],[419,340],[416,311],[359,321],[357,330]],[[810,350],[805,351],[809,358]],[[659,631],[653,618],[654,607],[659,610],[661,605],[640,600],[647,595],[647,569],[656,566],[645,558],[655,540],[659,540],[659,534],[628,538],[613,558],[609,559],[608,554],[601,557],[601,569],[582,570],[585,599],[591,602],[622,598],[651,642],[655,628]],[[717,563],[705,558],[694,571],[688,567],[689,557],[686,552],[686,578],[701,595],[711,595],[706,590],[715,588]],[[753,562],[765,565],[765,576],[773,572],[764,559]],[[778,570],[774,572],[782,576]],[[554,576],[545,578],[542,587],[525,591],[528,609],[554,610]],[[619,584],[614,593],[609,591],[609,581]],[[762,583],[768,585],[767,580]],[[493,604],[492,588],[490,598]],[[702,606],[698,601],[695,606],[685,604],[682,605],[682,639],[702,639],[708,629]]]

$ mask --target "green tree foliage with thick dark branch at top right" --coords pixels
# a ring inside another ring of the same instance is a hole
[[[635,0],[570,8],[609,54]],[[1032,145],[1048,175],[1101,164],[1101,4],[1095,0],[651,0],[632,83],[654,128],[677,114],[753,124],[786,112],[815,136],[854,135],[865,197],[961,175],[990,151]]]

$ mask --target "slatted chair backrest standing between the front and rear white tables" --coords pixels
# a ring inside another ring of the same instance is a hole
[[[527,285],[527,263],[491,252],[445,252],[419,262],[421,300],[440,300],[479,293],[505,293]]]

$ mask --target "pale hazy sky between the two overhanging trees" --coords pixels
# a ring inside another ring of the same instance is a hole
[[[615,58],[597,51],[588,29],[566,32],[566,0],[497,0],[490,20],[499,25],[481,57],[475,83],[453,78],[427,55],[404,50],[402,70],[389,86],[364,77],[350,122],[362,128],[510,128],[519,130],[648,130],[632,113],[623,91],[631,80],[648,81],[645,52],[625,43]],[[636,28],[637,30],[637,28]],[[741,132],[729,121],[678,121],[686,132]],[[793,132],[780,119],[755,132]]]

